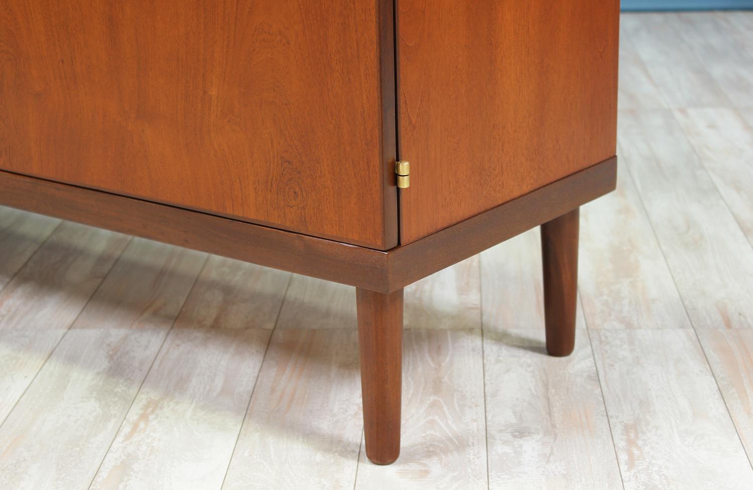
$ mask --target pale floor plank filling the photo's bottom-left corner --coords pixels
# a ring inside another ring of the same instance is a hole
[[[0,426],[0,487],[87,488],[164,336],[69,330]]]

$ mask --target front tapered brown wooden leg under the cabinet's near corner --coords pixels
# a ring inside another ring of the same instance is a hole
[[[390,464],[400,454],[403,290],[383,294],[355,288],[366,455]]]

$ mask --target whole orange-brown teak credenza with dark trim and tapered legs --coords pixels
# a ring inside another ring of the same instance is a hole
[[[7,0],[0,204],[355,286],[366,451],[400,450],[403,288],[541,225],[572,352],[614,189],[617,0]]]

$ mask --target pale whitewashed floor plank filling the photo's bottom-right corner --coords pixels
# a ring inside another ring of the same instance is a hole
[[[750,488],[753,469],[691,330],[590,336],[626,490]]]

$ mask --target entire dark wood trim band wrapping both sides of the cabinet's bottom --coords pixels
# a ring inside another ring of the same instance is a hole
[[[0,205],[389,293],[614,190],[597,163],[408,245],[373,250],[0,170]]]

